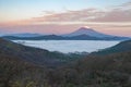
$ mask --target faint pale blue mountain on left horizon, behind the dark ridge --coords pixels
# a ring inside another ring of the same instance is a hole
[[[38,36],[43,36],[43,35],[40,35],[40,34],[23,33],[23,34],[9,34],[9,35],[2,35],[2,36],[12,36],[12,37],[38,37]]]

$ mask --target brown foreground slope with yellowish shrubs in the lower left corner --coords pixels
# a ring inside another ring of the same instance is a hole
[[[44,66],[0,53],[0,87],[34,87],[36,80],[45,78],[46,71]]]

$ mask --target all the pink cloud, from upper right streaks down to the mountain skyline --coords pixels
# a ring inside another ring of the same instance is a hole
[[[84,9],[79,11],[44,11],[46,15],[25,21],[0,24],[2,33],[44,33],[66,34],[81,26],[90,26],[96,30],[131,36],[131,2],[105,9]]]

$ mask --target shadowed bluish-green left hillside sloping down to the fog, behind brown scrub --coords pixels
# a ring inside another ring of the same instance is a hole
[[[79,54],[63,54],[60,52],[49,52],[48,50],[22,46],[0,38],[0,53],[13,55],[19,59],[32,62],[37,65],[60,65],[68,61],[81,58]],[[83,55],[82,55],[83,57]]]

